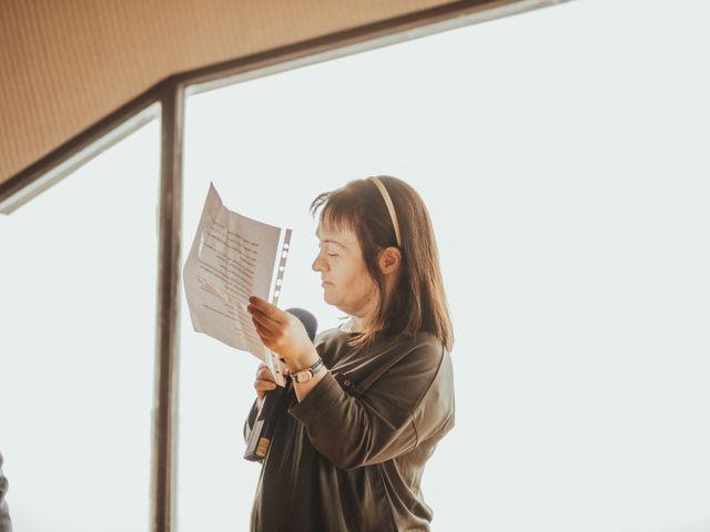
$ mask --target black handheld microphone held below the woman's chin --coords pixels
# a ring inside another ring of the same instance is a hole
[[[288,308],[286,311],[298,318],[305,327],[308,338],[313,341],[318,329],[318,321],[315,316],[303,308]],[[274,390],[268,390],[264,393],[262,408],[246,442],[246,452],[244,453],[246,460],[256,462],[266,457],[274,436],[274,429],[285,410],[286,398],[291,387],[291,379],[287,379],[286,386],[276,386]]]

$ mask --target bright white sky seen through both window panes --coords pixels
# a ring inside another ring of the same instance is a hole
[[[183,249],[212,181],[294,228],[281,304],[321,329],[313,197],[392,174],[427,202],[457,335],[433,530],[710,529],[708,20],[702,0],[578,0],[187,100]],[[18,530],[146,528],[156,146],[152,124],[0,218]],[[180,530],[245,530],[257,362],[181,313]]]

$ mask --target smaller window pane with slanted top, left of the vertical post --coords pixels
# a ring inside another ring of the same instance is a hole
[[[16,530],[149,530],[160,126],[0,216],[0,451]]]

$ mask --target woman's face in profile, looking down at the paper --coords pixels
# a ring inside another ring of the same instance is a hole
[[[378,303],[377,285],[367,272],[355,233],[318,224],[316,236],[321,250],[312,268],[321,273],[325,303],[349,316],[372,316]]]

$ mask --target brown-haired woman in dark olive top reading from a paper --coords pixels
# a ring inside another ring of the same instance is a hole
[[[454,427],[453,330],[432,223],[419,195],[389,176],[321,194],[325,301],[349,316],[308,339],[261,298],[248,310],[293,388],[263,461],[252,531],[427,531],[424,466]],[[264,392],[262,365],[251,428]]]

